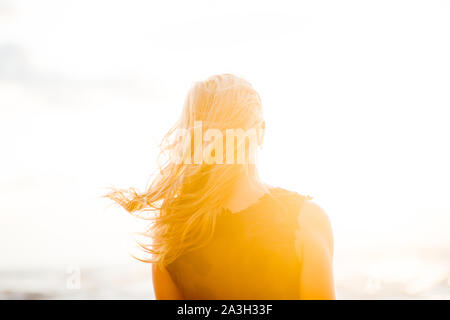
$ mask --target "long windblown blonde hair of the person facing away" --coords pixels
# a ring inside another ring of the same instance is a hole
[[[237,178],[246,173],[245,164],[189,164],[171,161],[192,157],[195,123],[211,128],[249,129],[263,123],[258,93],[244,79],[231,74],[197,82],[189,91],[180,119],[164,136],[161,156],[165,158],[148,189],[113,190],[107,197],[128,212],[151,220],[145,236],[151,244],[139,243],[152,255],[145,262],[168,265],[181,254],[205,245],[213,236],[216,216],[231,194]],[[208,142],[202,142],[207,144]],[[143,217],[139,212],[152,214]]]

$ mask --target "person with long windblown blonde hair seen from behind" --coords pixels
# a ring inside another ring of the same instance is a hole
[[[152,255],[157,299],[335,298],[328,217],[260,181],[255,145],[264,129],[247,81],[198,82],[163,140],[166,162],[150,187],[108,195],[151,220],[152,243],[141,247]]]

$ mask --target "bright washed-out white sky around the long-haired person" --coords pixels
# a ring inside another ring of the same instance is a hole
[[[337,249],[450,247],[450,3],[0,1],[0,267],[128,259],[104,187],[143,188],[190,85],[260,92],[269,183]]]

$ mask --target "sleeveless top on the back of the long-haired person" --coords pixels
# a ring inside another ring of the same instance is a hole
[[[213,239],[167,266],[185,299],[298,299],[304,199],[275,188],[238,213],[224,209]]]

